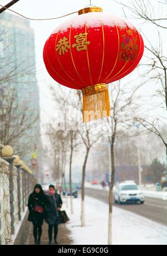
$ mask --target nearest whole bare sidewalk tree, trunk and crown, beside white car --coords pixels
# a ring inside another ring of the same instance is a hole
[[[129,92],[129,83],[121,84],[120,82],[112,84],[111,97],[111,117],[107,118],[108,141],[110,145],[111,154],[111,182],[109,190],[109,227],[108,227],[108,244],[112,244],[112,201],[113,201],[113,188],[115,181],[115,140],[120,135],[124,135],[127,131],[127,124],[132,122],[130,118],[131,113],[137,109],[137,96],[136,92],[141,87],[135,86]],[[127,133],[126,133],[127,135]]]

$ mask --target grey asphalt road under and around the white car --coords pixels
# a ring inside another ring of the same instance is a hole
[[[85,193],[87,196],[94,197],[102,202],[108,202],[108,191],[102,191],[95,188],[85,188]],[[134,212],[135,214],[146,217],[149,220],[153,220],[167,226],[167,201],[145,197],[144,205],[117,205],[114,203],[114,206],[123,208],[126,211]]]

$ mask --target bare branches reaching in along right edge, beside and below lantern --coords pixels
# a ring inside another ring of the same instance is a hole
[[[149,22],[153,28],[155,27],[158,30],[158,41],[156,41],[155,45],[147,39],[146,50],[147,55],[145,56],[146,61],[144,64],[147,67],[146,72],[143,73],[143,76],[147,75],[150,80],[153,80],[156,84],[159,85],[159,89],[156,91],[154,96],[161,97],[161,103],[158,103],[154,107],[154,109],[164,109],[167,110],[167,58],[165,55],[165,44],[161,37],[163,36],[163,30],[167,29],[165,25],[167,18],[162,16],[161,12],[155,13],[155,8],[153,1],[129,1],[128,4],[125,4],[122,1],[119,2],[122,6],[131,11],[132,17],[143,20],[144,22]],[[159,4],[159,10],[163,11],[164,7],[167,7],[167,1],[157,1],[156,4]],[[161,14],[160,14],[161,13]],[[159,16],[158,16],[159,15]],[[138,121],[144,127],[145,131],[149,133],[157,135],[158,138],[163,142],[166,148],[166,139],[165,135],[161,132],[162,127],[166,124],[166,118],[164,116],[159,117],[143,117],[143,115],[134,117],[135,121]],[[166,151],[166,159],[167,159],[167,151]]]

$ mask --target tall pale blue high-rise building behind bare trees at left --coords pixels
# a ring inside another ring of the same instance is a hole
[[[26,116],[30,120],[36,119],[33,127],[19,138],[19,149],[26,151],[23,160],[31,163],[35,144],[38,146],[40,143],[40,98],[36,80],[35,35],[30,21],[3,12],[0,15],[0,42],[1,72],[10,74],[7,86],[16,90],[19,106],[26,105]],[[14,148],[17,146],[14,145]]]

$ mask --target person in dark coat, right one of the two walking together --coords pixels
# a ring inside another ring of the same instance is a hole
[[[48,238],[49,244],[52,244],[52,233],[54,229],[54,240],[57,244],[58,224],[60,220],[60,208],[62,206],[61,196],[55,191],[55,186],[49,186],[49,195],[47,195],[46,217],[48,224]]]

